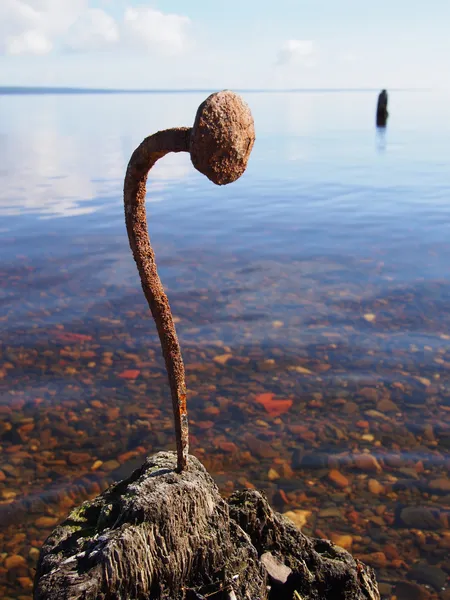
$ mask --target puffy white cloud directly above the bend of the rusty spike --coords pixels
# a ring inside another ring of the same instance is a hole
[[[124,31],[130,42],[169,54],[177,54],[185,48],[189,24],[188,17],[164,14],[144,6],[127,8],[124,17]]]

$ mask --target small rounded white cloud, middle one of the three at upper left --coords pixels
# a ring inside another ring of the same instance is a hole
[[[116,21],[104,10],[90,8],[69,29],[65,45],[74,51],[87,52],[109,46],[118,39]]]

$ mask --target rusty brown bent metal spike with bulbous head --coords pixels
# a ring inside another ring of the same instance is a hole
[[[175,421],[177,465],[187,464],[189,432],[183,358],[169,301],[156,268],[145,211],[146,183],[155,162],[169,152],[190,152],[194,167],[218,185],[231,183],[245,171],[255,141],[248,106],[233,92],[212,94],[203,102],[194,127],[159,131],[133,152],[124,183],[125,222],[142,289],[156,323],[169,378]]]

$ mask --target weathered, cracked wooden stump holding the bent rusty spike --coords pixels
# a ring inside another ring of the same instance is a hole
[[[374,572],[348,552],[303,535],[259,492],[227,502],[196,458],[181,473],[176,458],[148,458],[69,514],[41,550],[35,600],[379,600]],[[285,578],[270,577],[268,552]]]

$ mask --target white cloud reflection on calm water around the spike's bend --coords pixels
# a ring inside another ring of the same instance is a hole
[[[132,149],[121,130],[93,136],[81,127],[77,133],[71,130],[76,125],[59,127],[56,116],[29,125],[0,133],[0,217],[73,217],[101,210],[99,198],[122,202]],[[184,180],[190,170],[187,154],[159,161],[148,182],[148,201],[162,200],[167,184]]]

